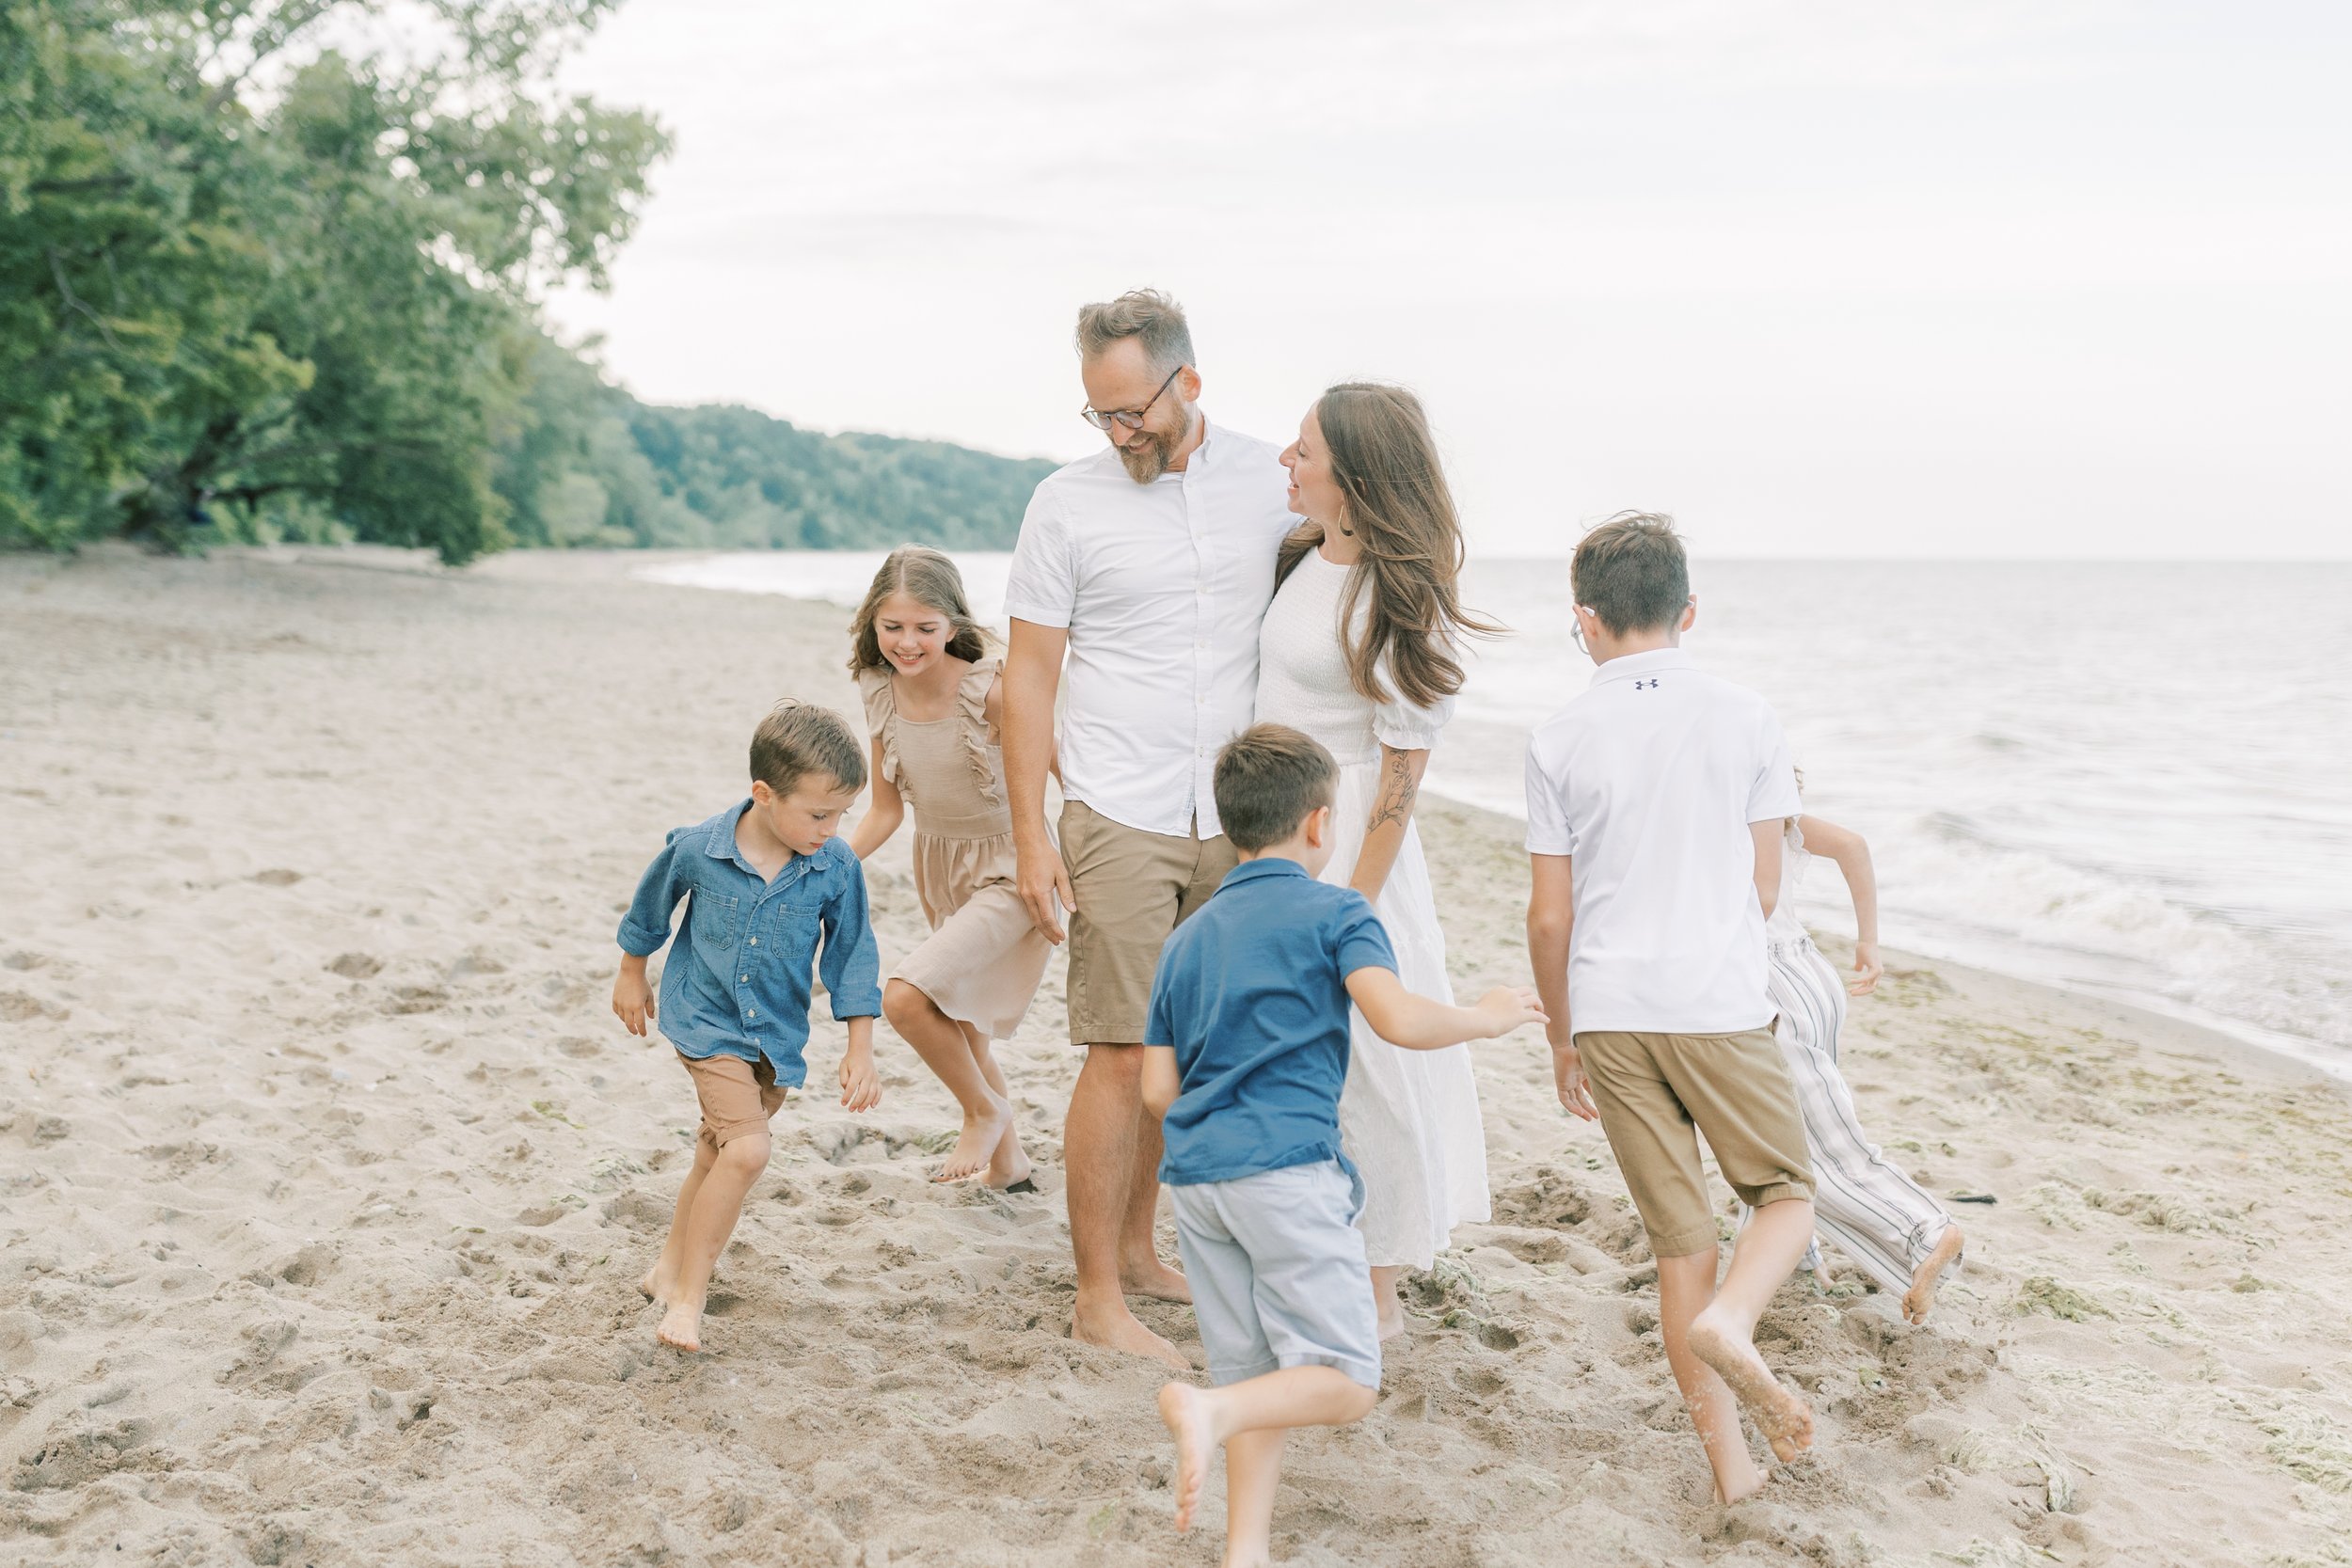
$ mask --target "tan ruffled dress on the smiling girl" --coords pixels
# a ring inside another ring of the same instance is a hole
[[[1016,884],[1004,748],[985,710],[997,670],[995,658],[971,665],[955,689],[953,712],[929,722],[898,717],[889,670],[858,672],[866,729],[882,745],[882,776],[915,813],[915,896],[931,922],[931,936],[891,978],[988,1039],[1021,1027],[1054,952]]]

